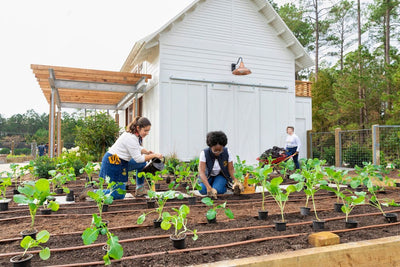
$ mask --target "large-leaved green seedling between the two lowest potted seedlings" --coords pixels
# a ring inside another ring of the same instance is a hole
[[[108,229],[108,223],[105,223],[101,216],[92,215],[92,223],[89,228],[86,228],[82,233],[83,244],[90,245],[96,242],[98,236],[105,235],[107,238],[104,250],[106,254],[103,256],[104,264],[110,265],[111,259],[119,260],[124,255],[124,249],[119,243],[118,236],[111,233]]]

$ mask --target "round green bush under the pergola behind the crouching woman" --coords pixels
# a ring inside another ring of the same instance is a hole
[[[118,132],[119,126],[112,117],[96,113],[81,119],[76,126],[75,144],[101,160],[106,148],[114,144]]]

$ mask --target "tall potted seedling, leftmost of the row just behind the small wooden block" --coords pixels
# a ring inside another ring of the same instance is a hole
[[[253,178],[248,180],[249,184],[255,184],[261,186],[261,210],[258,211],[258,219],[266,220],[268,218],[268,211],[265,209],[265,190],[267,189],[267,182],[269,175],[272,173],[273,167],[266,164],[264,166],[259,166],[253,171]]]

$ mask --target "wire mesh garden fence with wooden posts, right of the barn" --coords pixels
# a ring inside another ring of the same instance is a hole
[[[337,167],[363,162],[400,168],[400,125],[373,125],[371,129],[308,132],[308,156]]]

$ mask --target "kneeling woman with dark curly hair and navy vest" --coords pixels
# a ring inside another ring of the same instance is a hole
[[[243,185],[235,178],[233,173],[233,157],[226,144],[228,138],[221,131],[207,134],[207,146],[200,153],[199,173],[201,179],[200,194],[217,198],[217,194],[224,194],[227,185],[234,180],[233,188],[239,187],[243,191]]]

